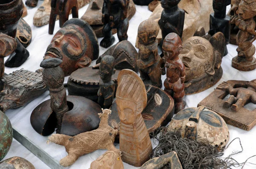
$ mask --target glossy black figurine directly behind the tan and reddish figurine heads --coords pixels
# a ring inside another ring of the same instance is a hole
[[[169,33],[178,34],[182,37],[184,20],[185,20],[185,11],[178,8],[178,3],[180,0],[162,0],[161,5],[163,11],[161,18],[158,21],[160,29],[162,31],[162,41],[160,45],[163,44],[163,39]]]

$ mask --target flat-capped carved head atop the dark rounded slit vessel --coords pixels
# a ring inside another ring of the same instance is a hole
[[[62,63],[61,59],[49,58],[41,62],[40,67],[43,70],[43,80],[50,89],[57,89],[64,83],[64,72],[59,67]]]

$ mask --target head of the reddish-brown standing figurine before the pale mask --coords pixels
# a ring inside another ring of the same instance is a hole
[[[166,60],[172,60],[182,51],[182,41],[175,33],[168,34],[163,40],[163,56]]]

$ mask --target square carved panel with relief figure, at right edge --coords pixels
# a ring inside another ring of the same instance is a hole
[[[249,103],[256,104],[256,79],[250,82],[222,82],[198,106],[203,105],[215,111],[227,124],[249,131],[256,125],[256,109],[248,110],[244,107]]]

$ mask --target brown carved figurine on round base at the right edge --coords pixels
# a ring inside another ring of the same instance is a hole
[[[255,46],[253,42],[256,40],[256,2],[254,0],[241,0],[239,8],[236,11],[238,19],[236,26],[239,32],[236,35],[238,48],[238,56],[232,59],[232,67],[242,71],[250,71],[256,68]]]

